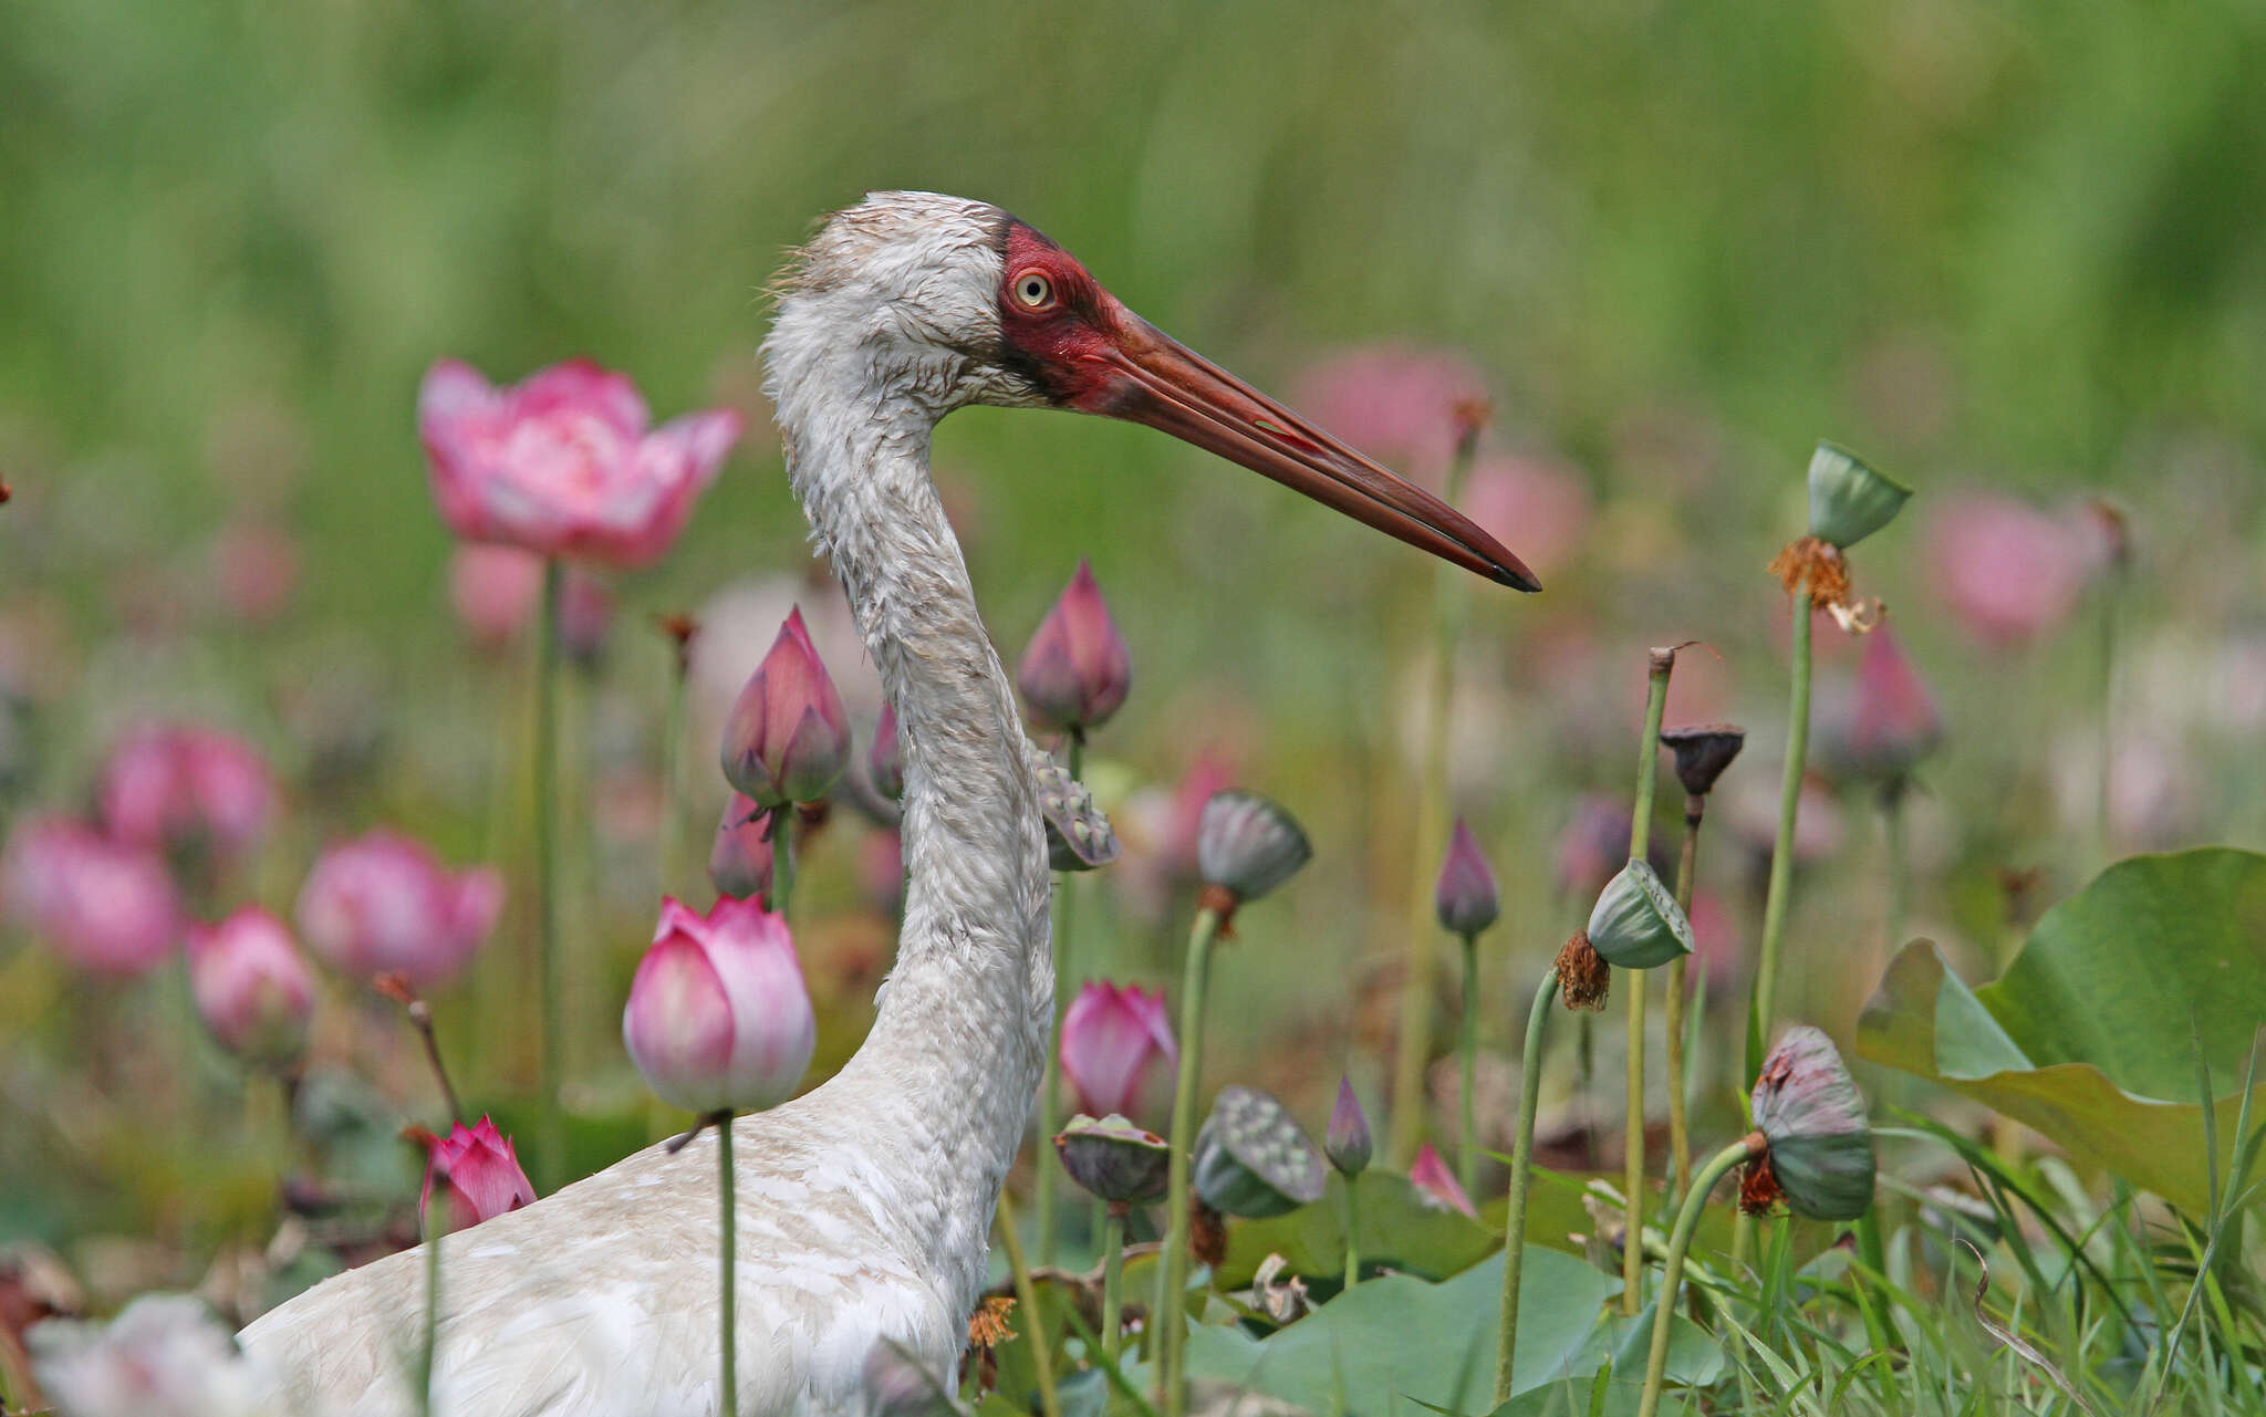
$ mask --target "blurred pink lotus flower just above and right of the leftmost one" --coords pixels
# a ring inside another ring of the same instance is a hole
[[[102,821],[129,846],[233,857],[267,830],[274,805],[274,778],[258,750],[211,728],[138,728],[102,769]]]

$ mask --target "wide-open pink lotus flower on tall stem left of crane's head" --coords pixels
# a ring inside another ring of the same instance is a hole
[[[417,392],[449,531],[625,569],[668,551],[741,433],[730,408],[646,422],[637,388],[582,358],[505,390],[442,360]]]

